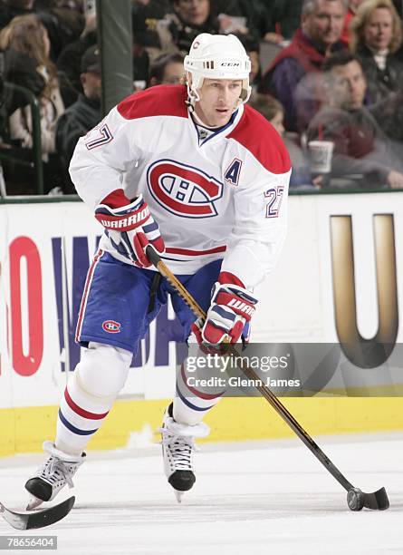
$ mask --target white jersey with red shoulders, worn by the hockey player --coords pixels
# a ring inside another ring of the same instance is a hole
[[[165,258],[193,274],[217,258],[252,289],[276,263],[286,232],[290,159],[270,123],[249,106],[200,139],[187,89],[131,95],[82,137],[70,172],[94,209],[113,190],[142,193],[158,221]],[[120,257],[102,236],[101,248]]]

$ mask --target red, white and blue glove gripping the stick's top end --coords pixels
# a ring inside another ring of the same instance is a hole
[[[118,202],[126,202],[116,206]],[[129,200],[119,191],[112,193],[95,209],[95,218],[107,230],[116,250],[139,268],[149,268],[151,262],[146,257],[145,248],[150,244],[159,254],[165,251],[164,239],[158,223],[149,212],[149,206],[142,195]]]

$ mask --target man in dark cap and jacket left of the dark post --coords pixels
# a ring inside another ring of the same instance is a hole
[[[64,191],[75,192],[69,164],[77,141],[101,121],[101,59],[98,46],[82,56],[82,91],[77,102],[61,116],[56,128],[56,149],[62,159]]]

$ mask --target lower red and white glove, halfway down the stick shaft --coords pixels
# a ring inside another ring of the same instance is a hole
[[[257,298],[245,287],[216,282],[212,290],[206,322],[203,324],[198,319],[191,326],[197,343],[217,345],[226,340],[229,343],[239,341],[243,334],[247,335],[256,303]]]

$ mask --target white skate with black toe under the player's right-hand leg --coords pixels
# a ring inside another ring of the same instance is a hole
[[[203,422],[194,426],[176,422],[172,417],[172,404],[170,404],[159,431],[162,435],[165,474],[180,503],[184,492],[190,490],[196,482],[192,461],[193,452],[196,450],[195,438],[206,437],[210,433],[210,428]]]

